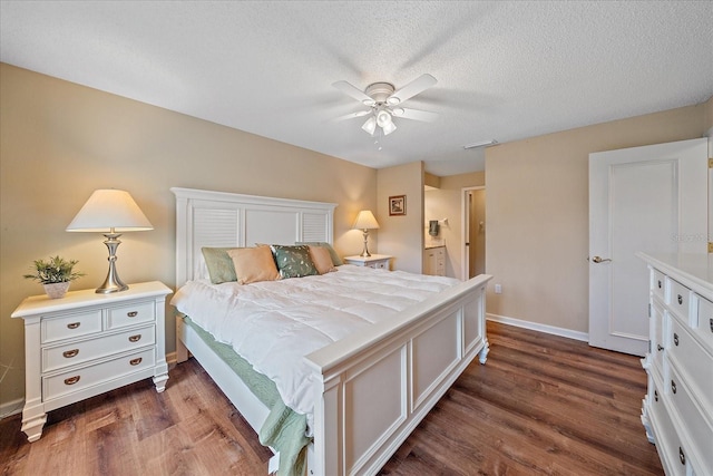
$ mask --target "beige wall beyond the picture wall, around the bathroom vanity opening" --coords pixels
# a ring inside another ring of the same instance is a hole
[[[438,244],[446,245],[446,275],[462,278],[462,188],[484,186],[486,173],[450,175],[440,178],[439,188],[426,192],[426,220],[448,218],[448,225],[441,225]],[[424,224],[426,226],[426,224]],[[428,230],[424,231],[428,235]],[[426,239],[426,243],[436,244],[434,240]]]

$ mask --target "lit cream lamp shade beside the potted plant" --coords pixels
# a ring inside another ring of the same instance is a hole
[[[67,226],[68,232],[107,233],[154,230],[131,195],[118,190],[95,191]]]

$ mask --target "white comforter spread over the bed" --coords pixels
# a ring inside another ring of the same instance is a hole
[[[189,281],[172,304],[271,378],[286,406],[311,417],[314,395],[303,356],[459,282],[343,265],[247,285]]]

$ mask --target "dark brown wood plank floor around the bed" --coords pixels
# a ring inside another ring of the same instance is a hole
[[[638,358],[488,323],[473,362],[382,475],[662,475]],[[271,454],[201,366],[55,410],[27,443],[0,421],[0,475],[265,475]]]

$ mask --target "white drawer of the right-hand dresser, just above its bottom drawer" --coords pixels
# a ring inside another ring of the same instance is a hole
[[[674,368],[671,369],[670,386],[671,400],[678,415],[675,421],[680,422],[681,426],[686,429],[691,445],[688,451],[695,453],[695,459],[699,465],[709,468],[709,472],[705,474],[713,474],[713,451],[711,451],[710,448],[713,443],[713,428],[710,426],[711,422],[705,418],[701,418],[702,411],[691,398],[691,390]]]

